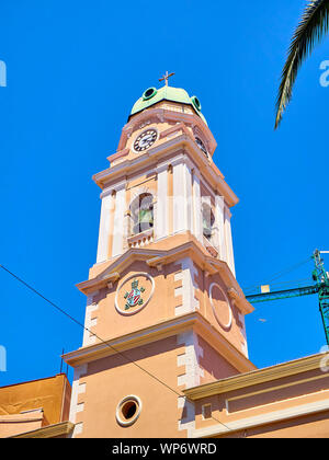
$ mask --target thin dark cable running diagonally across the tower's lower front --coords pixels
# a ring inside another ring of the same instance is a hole
[[[139,370],[143,370],[144,372],[146,372],[149,377],[151,377],[152,379],[155,379],[158,383],[161,383],[163,387],[166,387],[168,390],[172,391],[173,393],[175,393],[179,398],[184,398],[188,402],[190,402],[191,404],[194,405],[195,407],[195,403],[194,401],[190,400],[188,396],[180,394],[177,390],[174,390],[173,388],[171,388],[169,384],[167,384],[166,382],[163,382],[162,380],[160,380],[158,377],[156,377],[155,375],[152,375],[151,372],[149,372],[148,370],[144,369],[144,367],[139,366],[134,359],[129,358],[128,356],[126,356],[124,353],[120,352],[118,349],[116,349],[114,346],[110,345],[106,341],[104,341],[103,338],[101,338],[98,334],[91,332],[88,327],[84,326],[84,324],[80,323],[80,321],[76,320],[76,318],[73,318],[71,314],[67,313],[64,309],[61,309],[60,307],[58,307],[56,303],[54,303],[52,300],[47,299],[43,294],[41,294],[38,290],[36,290],[34,287],[32,287],[31,285],[29,285],[26,281],[24,281],[22,278],[20,278],[18,275],[15,275],[14,273],[12,273],[10,269],[8,269],[4,265],[0,264],[0,268],[4,269],[9,275],[11,275],[13,278],[15,278],[19,283],[23,284],[25,287],[27,287],[27,289],[32,290],[35,295],[37,295],[38,297],[41,297],[43,300],[45,300],[47,303],[49,303],[50,306],[53,306],[55,309],[57,309],[60,313],[65,314],[67,318],[69,318],[71,321],[73,321],[76,324],[78,324],[80,327],[82,327],[84,331],[88,331],[90,334],[92,334],[93,336],[95,336],[99,341],[101,341],[104,345],[106,345],[109,348],[111,348],[112,350],[114,350],[116,354],[118,354],[120,356],[122,356],[123,358],[125,358],[127,361],[132,363],[133,365],[135,365]],[[218,421],[217,418],[215,418],[213,415],[211,415],[211,417],[219,423],[220,425],[223,425],[225,428],[227,428],[229,432],[231,432],[231,429],[225,425],[225,423]]]

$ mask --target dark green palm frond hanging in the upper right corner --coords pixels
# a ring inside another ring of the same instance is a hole
[[[282,120],[283,112],[292,99],[293,87],[303,61],[329,28],[329,0],[310,1],[294,32],[288,56],[281,74],[276,97],[275,129]]]

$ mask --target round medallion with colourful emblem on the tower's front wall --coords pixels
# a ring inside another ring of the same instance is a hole
[[[121,314],[135,314],[147,306],[154,291],[154,278],[148,273],[136,273],[117,287],[115,308]]]

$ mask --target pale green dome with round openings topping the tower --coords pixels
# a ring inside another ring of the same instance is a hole
[[[172,88],[172,87],[162,87],[159,90],[156,88],[148,88],[135,102],[131,116],[137,114],[138,112],[144,111],[145,108],[150,107],[151,105],[157,104],[160,101],[173,101],[181,104],[192,105],[195,113],[207,124],[205,117],[201,113],[201,104],[196,96],[190,97],[188,92],[182,88]]]

